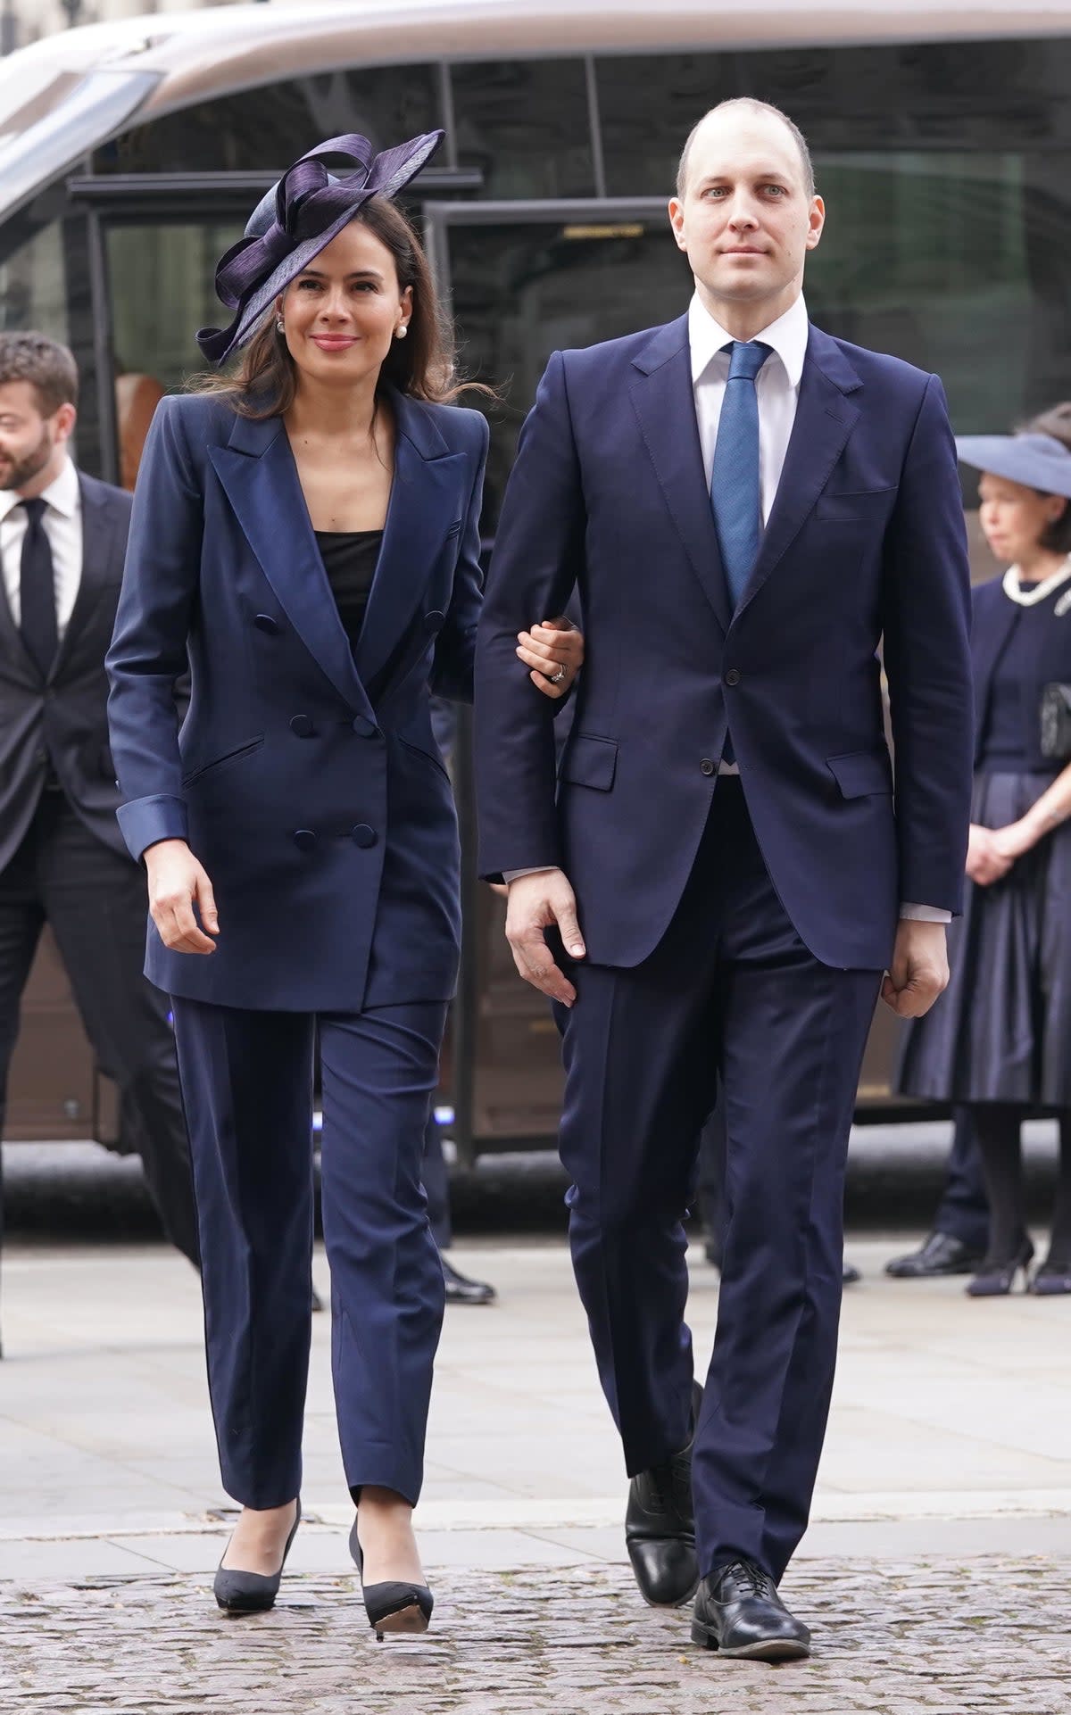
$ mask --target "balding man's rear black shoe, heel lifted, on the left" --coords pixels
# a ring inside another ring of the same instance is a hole
[[[625,1545],[650,1607],[680,1607],[695,1595],[695,1511],[692,1507],[692,1442],[699,1423],[702,1387],[692,1382],[692,1434],[688,1446],[628,1483]]]

